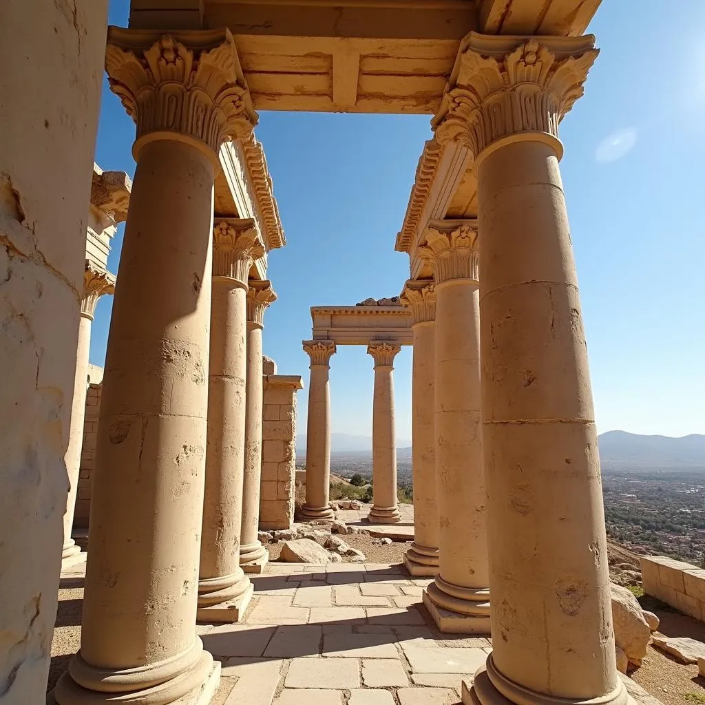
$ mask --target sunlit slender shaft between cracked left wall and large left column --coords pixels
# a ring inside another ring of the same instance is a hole
[[[71,538],[73,513],[76,508],[78,491],[78,474],[81,465],[81,448],[83,445],[83,422],[86,410],[86,388],[88,379],[88,354],[90,353],[90,328],[92,317],[81,314],[78,324],[78,346],[76,348],[76,376],[73,383],[73,402],[71,403],[71,426],[68,431],[68,448],[66,449],[66,472],[68,473],[68,498],[66,512],[63,515],[62,563],[70,563],[73,556],[80,552]]]

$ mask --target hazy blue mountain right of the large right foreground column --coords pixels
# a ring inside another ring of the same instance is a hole
[[[598,438],[603,467],[630,470],[705,470],[705,436],[639,436],[607,431]]]

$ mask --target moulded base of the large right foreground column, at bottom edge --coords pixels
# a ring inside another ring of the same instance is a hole
[[[463,705],[636,705],[622,680],[612,692],[594,698],[558,698],[529,690],[502,675],[491,654],[472,683],[462,681],[461,699]]]

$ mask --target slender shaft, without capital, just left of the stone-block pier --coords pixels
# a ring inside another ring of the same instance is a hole
[[[245,393],[245,481],[240,563],[259,560],[266,548],[257,539],[259,479],[262,474],[262,326],[247,322],[247,391]]]

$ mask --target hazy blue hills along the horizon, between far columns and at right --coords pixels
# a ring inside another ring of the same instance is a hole
[[[607,431],[599,436],[600,460],[613,470],[705,470],[705,436],[691,434],[682,438],[640,436],[627,431]],[[297,459],[306,456],[306,436],[296,439]],[[411,460],[411,441],[398,441],[398,460]],[[331,456],[372,461],[372,437],[331,434]]]

